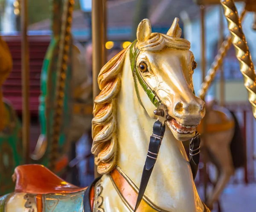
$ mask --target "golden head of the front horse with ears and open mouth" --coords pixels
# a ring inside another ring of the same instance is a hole
[[[192,74],[196,68],[190,43],[180,38],[181,29],[176,18],[167,34],[151,33],[149,20],[143,20],[137,29],[136,47],[140,50],[136,65],[143,81],[166,106],[166,122],[177,140],[195,136],[196,126],[205,114],[204,102],[195,96]],[[140,88],[139,88],[140,89]],[[147,93],[139,91],[142,105],[154,118],[155,105]]]

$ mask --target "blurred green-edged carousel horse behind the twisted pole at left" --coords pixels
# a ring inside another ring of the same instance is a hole
[[[46,56],[46,67],[43,67],[41,73],[41,87],[42,95],[40,96],[40,123],[41,123],[41,135],[39,136],[35,152],[32,154],[32,159],[41,164],[48,166],[49,158],[46,154],[49,150],[49,144],[47,144],[47,136],[50,136],[50,126],[52,125],[53,113],[53,101],[54,93],[51,92],[52,87],[55,86],[55,71],[50,71],[50,62],[48,58],[52,58],[54,45],[49,45],[48,54]],[[64,101],[64,122],[62,125],[62,134],[59,141],[59,152],[61,155],[57,163],[56,172],[61,171],[68,164],[67,155],[70,150],[71,142],[79,140],[82,134],[91,127],[92,115],[88,114],[88,111],[82,111],[82,109],[90,110],[85,107],[86,105],[92,104],[90,102],[90,94],[92,93],[92,82],[86,71],[86,64],[84,62],[83,47],[79,43],[72,45],[71,52],[71,67],[68,70],[67,87],[65,90],[65,101]],[[49,54],[52,53],[52,54]],[[47,75],[47,77],[45,77]],[[72,94],[68,90],[72,90]],[[48,101],[46,101],[46,99]],[[48,114],[48,116],[46,115]],[[51,114],[49,116],[49,114]],[[59,164],[59,165],[58,165]]]

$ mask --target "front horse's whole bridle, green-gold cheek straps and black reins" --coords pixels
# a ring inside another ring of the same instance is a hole
[[[140,105],[145,109],[141,101],[140,93],[138,90],[138,82],[139,82],[141,87],[145,91],[145,93],[148,95],[148,98],[150,99],[150,101],[153,103],[155,107],[157,107],[157,109],[154,110],[154,114],[158,116],[158,119],[153,125],[153,133],[150,136],[148,153],[146,155],[147,157],[145,160],[145,165],[143,167],[143,173],[140,180],[140,188],[139,188],[134,212],[136,212],[137,208],[140,205],[140,202],[145,193],[145,189],[148,185],[148,181],[151,176],[152,170],[157,161],[157,156],[158,156],[161,142],[166,129],[165,122],[167,121],[167,119],[171,118],[171,116],[168,115],[166,105],[164,105],[161,102],[160,98],[157,96],[157,93],[148,86],[148,84],[145,82],[145,80],[143,79],[143,76],[141,75],[138,69],[138,65],[136,61],[137,61],[138,55],[140,54],[140,49],[135,47],[136,42],[137,40],[135,40],[131,44],[130,54],[129,54],[131,71],[134,79],[135,92],[140,102]],[[199,153],[200,153],[200,134],[196,132],[195,136],[189,141],[189,164],[192,168],[192,174],[194,179],[195,179],[197,169],[198,169],[198,164],[199,164]]]

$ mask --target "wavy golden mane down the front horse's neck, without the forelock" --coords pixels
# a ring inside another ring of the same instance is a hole
[[[121,89],[121,70],[128,49],[113,57],[98,77],[101,92],[94,100],[91,151],[97,155],[94,162],[100,174],[107,174],[116,165],[116,95]]]

